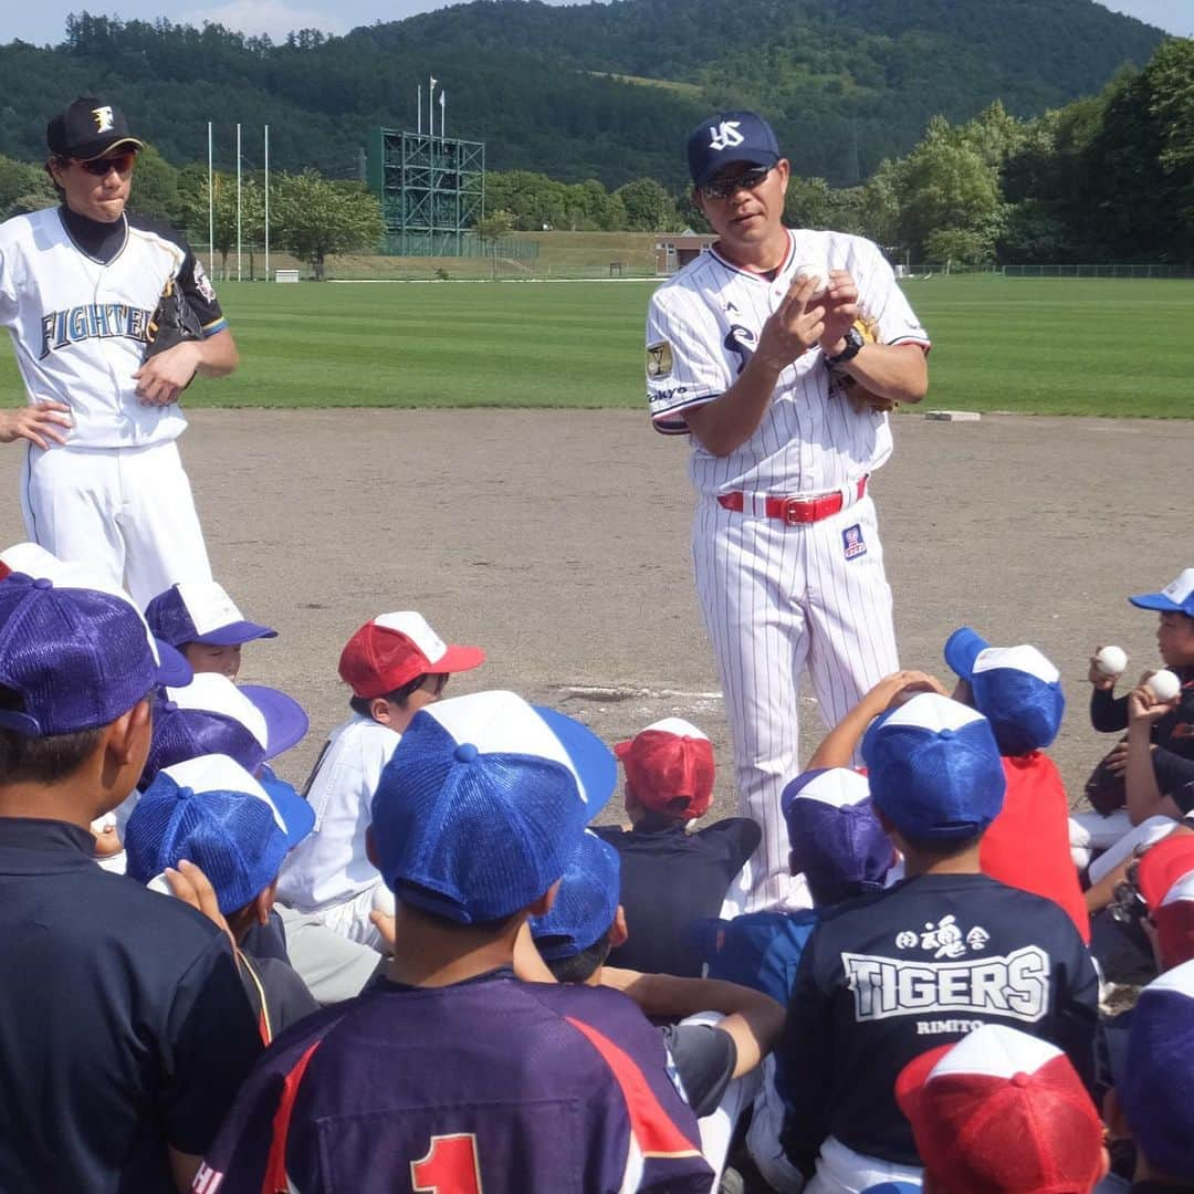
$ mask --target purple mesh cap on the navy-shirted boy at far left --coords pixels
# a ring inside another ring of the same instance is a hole
[[[29,738],[96,730],[161,678],[146,624],[123,597],[16,572],[0,584],[0,688],[20,701],[0,709],[0,728]]]

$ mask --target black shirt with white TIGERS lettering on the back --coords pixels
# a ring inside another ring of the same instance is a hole
[[[1091,1071],[1098,980],[1069,917],[980,874],[927,874],[830,910],[800,960],[776,1051],[784,1146],[827,1135],[916,1165],[896,1077],[918,1053],[1005,1023]]]

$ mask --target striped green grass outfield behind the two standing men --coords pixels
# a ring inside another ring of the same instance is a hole
[[[638,407],[654,283],[220,287],[241,368],[190,406]],[[934,339],[933,407],[1194,418],[1194,282],[906,284]],[[11,355],[0,393],[16,400]]]

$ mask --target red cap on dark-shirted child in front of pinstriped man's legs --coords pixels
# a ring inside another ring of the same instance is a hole
[[[641,805],[654,812],[695,820],[713,802],[713,743],[683,718],[654,721],[614,753]]]

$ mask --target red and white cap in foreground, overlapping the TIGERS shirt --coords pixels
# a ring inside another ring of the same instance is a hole
[[[1103,1125],[1070,1059],[1004,1024],[911,1060],[896,1100],[925,1174],[966,1194],[1089,1194]]]

